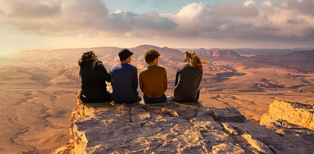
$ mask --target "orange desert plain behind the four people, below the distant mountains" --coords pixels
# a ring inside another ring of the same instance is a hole
[[[102,60],[107,70],[118,64],[117,58]],[[142,58],[131,64],[138,71],[147,66]],[[160,58],[168,75],[167,96],[173,94],[180,64],[181,60]],[[287,67],[250,60],[212,62],[204,65],[199,102],[233,106],[250,122],[259,123],[274,99],[314,102],[313,66]],[[48,58],[0,66],[0,154],[49,154],[69,141],[70,116],[80,86],[78,71],[77,59],[56,62]]]

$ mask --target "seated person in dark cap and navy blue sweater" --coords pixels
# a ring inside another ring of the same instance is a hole
[[[132,66],[131,59],[133,52],[123,49],[119,52],[120,65],[113,66],[110,70],[112,93],[114,103],[134,103],[141,101],[138,96],[137,69]]]

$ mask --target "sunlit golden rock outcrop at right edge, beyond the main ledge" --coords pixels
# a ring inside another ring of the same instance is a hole
[[[277,119],[314,129],[314,105],[275,100],[269,104],[269,111],[262,115],[261,125]]]

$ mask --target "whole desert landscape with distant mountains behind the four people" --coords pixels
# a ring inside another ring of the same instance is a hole
[[[235,107],[250,123],[275,99],[314,102],[314,48],[307,49],[171,49],[140,45],[131,64],[145,68],[144,53],[160,51],[172,96],[178,66],[185,51],[196,51],[204,74],[199,102],[207,107]],[[30,50],[0,56],[0,153],[48,154],[67,143],[72,109],[80,87],[78,59],[94,51],[110,70],[119,64],[121,48]],[[236,51],[236,52],[235,52]],[[277,52],[275,52],[277,51]],[[238,53],[241,54],[238,54]],[[110,87],[109,87],[110,90]],[[139,90],[139,89],[138,89]]]

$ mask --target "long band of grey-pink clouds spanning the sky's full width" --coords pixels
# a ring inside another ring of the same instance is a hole
[[[0,0],[0,21],[16,30],[49,36],[313,40],[313,7],[314,0],[259,4],[247,0],[191,3],[176,14],[137,14],[110,12],[103,0]]]

